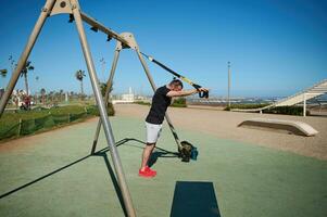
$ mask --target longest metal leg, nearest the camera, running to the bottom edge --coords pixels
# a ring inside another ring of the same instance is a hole
[[[73,3],[74,2],[74,3]],[[127,212],[127,215],[130,217],[135,217],[136,213],[133,206],[133,202],[131,202],[131,197],[129,194],[129,190],[125,180],[125,175],[123,171],[123,167],[122,167],[122,163],[120,159],[120,155],[117,152],[117,148],[115,146],[115,141],[114,141],[114,136],[112,132],[112,128],[109,122],[109,117],[106,114],[106,108],[104,106],[104,102],[103,102],[103,98],[101,95],[101,91],[100,91],[100,87],[98,84],[98,78],[97,78],[97,74],[96,74],[96,68],[93,65],[93,61],[91,58],[91,53],[88,47],[88,42],[87,42],[87,38],[85,35],[85,30],[84,30],[84,26],[83,26],[83,21],[80,17],[80,11],[77,4],[76,0],[72,0],[72,9],[73,9],[73,15],[75,18],[75,23],[76,23],[76,27],[78,30],[78,36],[79,36],[79,40],[80,40],[80,44],[83,48],[83,52],[84,52],[84,58],[87,64],[87,68],[89,72],[89,76],[90,76],[90,80],[91,80],[91,85],[92,85],[92,89],[95,92],[95,97],[98,103],[98,107],[99,107],[99,112],[100,112],[100,117],[101,117],[101,122],[103,124],[103,129],[104,129],[104,135],[108,141],[108,145],[110,148],[110,154],[113,161],[113,165],[115,168],[115,174],[117,177],[117,181],[120,183],[120,188],[122,191],[122,195],[123,195],[123,200],[124,200],[124,205]]]

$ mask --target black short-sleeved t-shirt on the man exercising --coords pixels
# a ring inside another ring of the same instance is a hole
[[[164,120],[167,107],[172,102],[172,98],[167,97],[171,90],[166,87],[160,87],[155,90],[152,98],[152,105],[146,118],[147,123],[161,125]]]

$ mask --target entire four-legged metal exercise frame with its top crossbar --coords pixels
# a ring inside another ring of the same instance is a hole
[[[122,167],[121,158],[120,158],[120,155],[117,152],[117,148],[115,145],[112,127],[111,127],[109,117],[106,115],[108,113],[106,113],[106,106],[105,106],[105,104],[108,103],[108,100],[109,100],[109,90],[111,89],[111,86],[112,86],[115,68],[116,68],[120,52],[122,51],[122,49],[131,49],[131,50],[136,51],[138,59],[147,74],[148,80],[149,80],[153,91],[155,91],[155,89],[156,89],[155,84],[150,74],[150,71],[148,68],[148,65],[144,62],[142,54],[140,53],[139,47],[138,47],[133,34],[130,34],[130,33],[117,34],[117,33],[113,31],[112,29],[105,27],[104,25],[102,25],[101,23],[96,21],[95,18],[92,18],[89,15],[81,12],[78,0],[47,0],[45,7],[41,10],[41,13],[40,13],[38,20],[34,26],[34,29],[28,38],[27,44],[20,56],[17,66],[14,71],[14,73],[12,74],[12,77],[8,84],[5,92],[1,98],[0,116],[3,114],[5,105],[10,99],[10,95],[12,94],[12,91],[13,91],[13,89],[17,82],[17,79],[21,75],[21,72],[33,50],[33,47],[41,31],[42,26],[45,25],[48,17],[51,17],[51,16],[58,15],[58,14],[68,14],[70,23],[73,23],[75,21],[76,28],[77,28],[78,36],[79,36],[80,46],[81,46],[84,58],[85,58],[85,62],[86,62],[90,81],[92,85],[92,90],[93,90],[95,98],[96,98],[96,101],[97,101],[97,104],[99,107],[99,112],[100,112],[100,119],[99,119],[99,123],[97,126],[91,153],[95,154],[100,128],[101,128],[101,125],[103,125],[104,135],[106,138],[108,145],[110,148],[110,153],[111,153],[111,157],[113,159],[115,174],[116,174],[120,189],[122,192],[124,206],[126,208],[127,215],[134,217],[134,216],[136,216],[136,212],[135,212],[133,201],[130,199],[130,193],[129,193],[126,180],[125,180],[125,175],[123,171],[123,167]],[[117,41],[116,48],[114,51],[114,60],[113,60],[113,64],[111,67],[110,78],[106,84],[108,88],[106,88],[104,98],[102,98],[102,95],[101,95],[101,91],[99,88],[99,80],[97,77],[93,60],[92,60],[92,56],[90,53],[90,49],[88,46],[88,41],[87,41],[86,34],[85,34],[83,22],[86,22],[87,24],[89,24],[91,26],[92,30],[101,31],[101,33],[105,34],[108,41],[110,41],[111,39],[115,39]],[[194,86],[194,84],[193,84],[193,87],[200,88],[200,86]],[[177,132],[171,122],[168,114],[165,115],[165,119],[168,123],[171,131],[177,143],[178,151],[183,150],[184,145],[180,144],[179,138],[178,138]]]

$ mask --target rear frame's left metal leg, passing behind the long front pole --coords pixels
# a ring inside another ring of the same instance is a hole
[[[120,43],[120,42],[117,42],[117,43]],[[114,60],[113,60],[111,72],[110,72],[110,77],[106,81],[106,89],[105,89],[105,94],[104,94],[104,104],[105,105],[108,104],[108,101],[109,101],[109,93],[110,93],[110,89],[112,87],[112,82],[113,82],[113,79],[114,79],[114,74],[115,74],[118,58],[120,58],[120,51],[121,51],[120,49],[115,50]],[[92,149],[91,149],[91,154],[95,154],[96,149],[97,149],[99,133],[100,133],[100,130],[101,130],[101,124],[102,124],[101,118],[99,118],[97,130],[96,130],[96,133],[95,133],[93,145],[92,145]]]

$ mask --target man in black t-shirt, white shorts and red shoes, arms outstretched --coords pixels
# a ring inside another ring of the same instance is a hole
[[[172,102],[172,98],[187,97],[194,94],[199,91],[209,90],[205,88],[200,88],[199,90],[183,90],[183,82],[178,79],[174,79],[168,85],[165,85],[155,90],[154,95],[152,98],[152,105],[150,112],[146,118],[147,145],[143,150],[139,176],[151,178],[156,175],[156,171],[150,169],[150,167],[148,166],[148,162],[160,137],[165,112]]]

